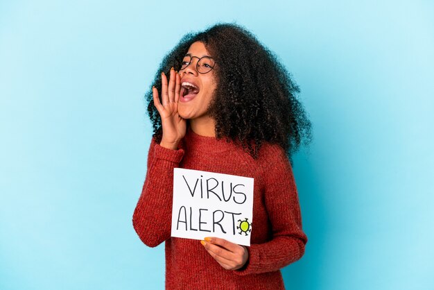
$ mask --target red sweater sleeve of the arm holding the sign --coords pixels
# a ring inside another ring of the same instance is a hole
[[[248,247],[248,262],[234,271],[238,275],[277,271],[300,259],[307,243],[290,162],[283,149],[277,146],[270,148],[269,156],[268,164],[263,166],[263,174],[272,239]]]

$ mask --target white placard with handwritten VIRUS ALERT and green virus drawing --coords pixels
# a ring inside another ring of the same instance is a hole
[[[254,178],[173,169],[172,237],[250,246]]]

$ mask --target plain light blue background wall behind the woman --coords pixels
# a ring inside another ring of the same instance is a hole
[[[277,53],[313,122],[286,288],[434,289],[434,6],[414,0],[1,1],[0,289],[164,287],[164,246],[131,221],[143,96],[218,21]]]

